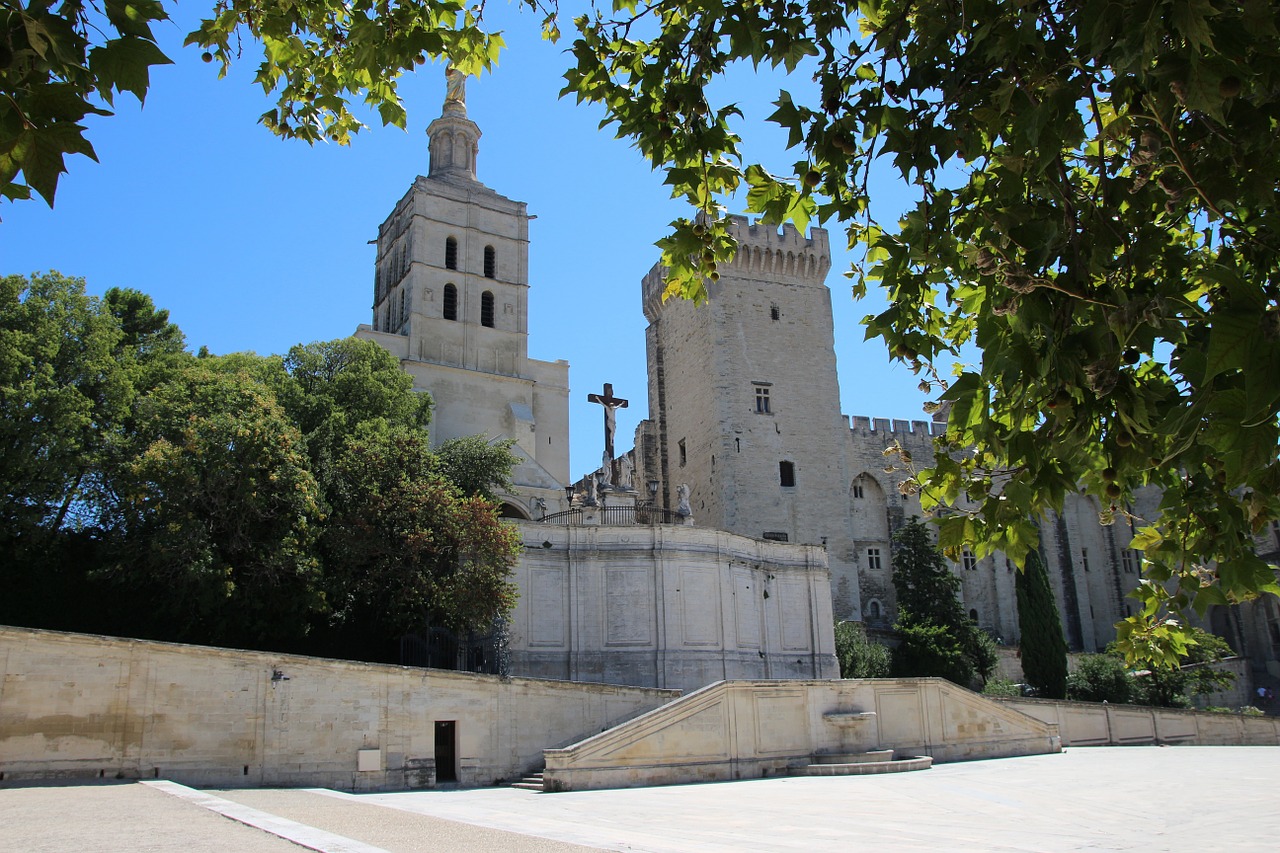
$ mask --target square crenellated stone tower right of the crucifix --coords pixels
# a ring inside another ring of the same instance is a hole
[[[708,305],[664,304],[658,266],[644,278],[650,420],[636,435],[641,482],[657,480],[672,510],[687,483],[698,526],[826,544],[832,581],[844,580],[858,612],[827,232],[806,238],[744,216],[730,229],[737,256]]]

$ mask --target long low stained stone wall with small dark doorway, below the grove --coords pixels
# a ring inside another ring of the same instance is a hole
[[[489,785],[678,695],[3,626],[0,672],[5,781],[430,788],[453,721],[458,781]]]

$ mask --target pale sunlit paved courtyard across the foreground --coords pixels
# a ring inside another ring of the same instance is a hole
[[[1276,747],[1076,748],[890,776],[568,794],[6,785],[0,849],[1274,850],[1277,804]]]

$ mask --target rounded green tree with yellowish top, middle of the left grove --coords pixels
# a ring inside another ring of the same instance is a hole
[[[138,400],[97,503],[104,571],[154,602],[170,639],[280,642],[324,605],[305,447],[246,373],[192,359]]]

